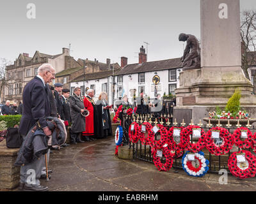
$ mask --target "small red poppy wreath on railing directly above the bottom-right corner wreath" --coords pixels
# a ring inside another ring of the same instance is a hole
[[[241,132],[246,132],[247,138],[245,140],[241,140]],[[237,145],[237,147],[240,147],[241,149],[249,148],[251,146],[253,135],[252,132],[248,128],[237,128],[236,131],[233,133],[234,142]]]

